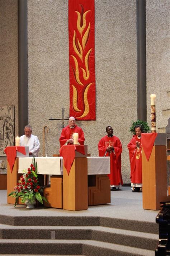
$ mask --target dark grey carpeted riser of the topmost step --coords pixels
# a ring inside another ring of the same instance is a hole
[[[5,216],[0,215],[0,223],[23,226],[104,226],[125,230],[135,230],[152,234],[159,233],[155,222],[127,220],[96,216]]]

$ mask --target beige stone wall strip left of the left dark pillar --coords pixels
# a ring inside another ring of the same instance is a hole
[[[18,134],[18,1],[0,0],[0,107],[10,105]]]

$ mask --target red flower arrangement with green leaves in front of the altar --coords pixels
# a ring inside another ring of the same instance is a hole
[[[37,162],[35,158],[30,165],[30,168],[23,171],[23,175],[20,177],[18,183],[14,187],[15,191],[12,191],[9,195],[15,198],[15,206],[18,203],[18,199],[21,198],[21,202],[29,201],[34,202],[37,199],[41,204],[43,200],[48,203],[47,199],[42,196],[43,188],[38,184],[37,175]]]

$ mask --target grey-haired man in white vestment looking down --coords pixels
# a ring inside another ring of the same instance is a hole
[[[30,125],[26,125],[24,128],[25,135],[20,137],[20,146],[28,146],[29,147],[29,156],[38,156],[39,152],[39,140],[38,137],[32,134],[32,127]]]

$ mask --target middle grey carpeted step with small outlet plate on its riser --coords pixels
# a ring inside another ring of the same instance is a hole
[[[1,239],[82,239],[155,250],[159,235],[98,226],[0,225]],[[3,241],[3,240],[2,240]]]

